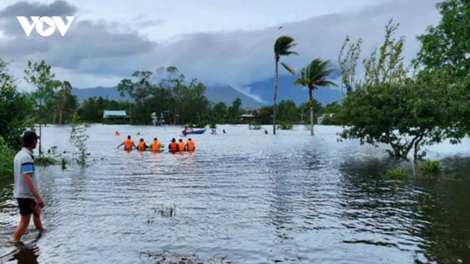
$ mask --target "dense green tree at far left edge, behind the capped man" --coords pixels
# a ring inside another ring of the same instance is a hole
[[[8,74],[8,64],[0,60],[0,137],[14,150],[22,147],[21,136],[32,127],[34,100],[17,90],[17,79]]]

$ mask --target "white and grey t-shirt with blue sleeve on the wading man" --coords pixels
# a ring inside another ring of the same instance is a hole
[[[34,199],[34,196],[31,193],[31,190],[28,188],[24,181],[24,173],[31,173],[31,180],[36,191],[38,190],[38,183],[36,181],[36,175],[34,174],[34,157],[32,153],[23,148],[15,156],[14,163],[14,173],[15,173],[15,188],[13,191],[13,196],[15,198],[31,198]]]

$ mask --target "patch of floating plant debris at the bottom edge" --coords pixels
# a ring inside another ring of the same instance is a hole
[[[234,264],[233,261],[225,261],[227,256],[219,257],[220,254],[215,254],[208,260],[202,260],[196,253],[192,255],[178,254],[163,249],[162,253],[141,252],[141,257],[153,258],[156,264]]]

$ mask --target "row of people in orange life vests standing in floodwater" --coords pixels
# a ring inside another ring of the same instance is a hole
[[[131,139],[131,136],[127,136],[127,139],[124,140],[122,144],[118,146],[121,147],[124,145],[124,150],[131,151],[133,148],[138,149],[140,151],[145,151],[145,150],[151,150],[153,152],[160,152],[162,151],[162,148],[164,148],[164,144],[160,143],[157,138],[154,138],[152,143],[150,145],[147,145],[144,141],[144,139],[141,139],[139,143],[137,143],[137,146],[134,144],[134,141]],[[180,139],[179,142],[176,142],[176,139],[172,139],[172,142],[168,145],[168,150],[172,153],[176,152],[192,152],[196,150],[196,143],[194,143],[193,140],[188,139],[187,142],[183,142],[183,140]]]

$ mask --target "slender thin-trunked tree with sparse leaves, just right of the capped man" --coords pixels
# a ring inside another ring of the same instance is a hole
[[[39,137],[41,137],[41,127],[44,123],[44,116],[47,111],[54,106],[55,89],[60,86],[60,82],[53,79],[55,74],[51,72],[51,66],[47,65],[44,60],[40,63],[35,62],[34,64],[28,61],[28,69],[24,70],[24,73],[26,74],[25,80],[37,88],[33,96],[39,103],[37,109]],[[39,140],[39,155],[42,155],[41,140]]]

